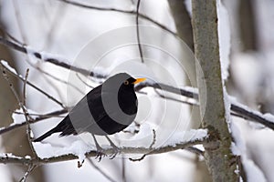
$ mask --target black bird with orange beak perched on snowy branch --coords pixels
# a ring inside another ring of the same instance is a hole
[[[107,135],[120,132],[132,124],[138,104],[134,84],[143,80],[145,78],[135,79],[126,73],[111,76],[84,96],[58,126],[39,136],[34,142],[58,132],[61,132],[59,136],[90,132],[98,150],[101,147],[94,135],[106,136],[111,146],[116,147]]]

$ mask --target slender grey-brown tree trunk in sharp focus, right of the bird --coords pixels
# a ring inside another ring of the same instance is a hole
[[[208,130],[205,162],[214,181],[238,181],[231,150],[219,57],[216,0],[192,0],[196,72],[202,126]],[[201,66],[199,68],[199,65]]]

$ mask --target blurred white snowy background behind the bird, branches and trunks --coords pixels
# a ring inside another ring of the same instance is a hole
[[[78,2],[122,10],[135,10],[137,3],[130,0]],[[262,113],[273,114],[274,103],[271,98],[274,94],[274,3],[271,0],[252,1],[257,47],[246,49],[239,33],[239,1],[221,2],[222,5],[218,1],[220,56],[223,77],[227,79],[227,92],[237,97],[237,101],[242,104]],[[190,1],[185,1],[185,5],[188,10],[191,9]],[[99,73],[127,71],[134,76],[147,76],[152,82],[161,81],[172,86],[185,86],[185,82],[190,81],[191,86],[195,85],[189,71],[191,65],[187,65],[193,60],[191,51],[173,35],[142,18],[140,24],[145,26],[141,27],[141,41],[147,46],[143,46],[146,58],[145,64],[141,64],[135,40],[135,15],[80,8],[58,0],[1,0],[0,6],[1,22],[6,31],[29,45],[29,50],[35,49],[46,56],[61,56],[72,65]],[[176,31],[168,2],[142,1],[140,11]],[[182,47],[184,55],[180,52]],[[28,56],[18,52],[13,54],[19,74],[24,76],[26,68],[29,67],[28,80],[58,98],[66,106],[73,106],[81,96],[90,91],[90,86],[97,86],[102,81],[82,76],[82,80],[90,85],[87,86],[75,74],[43,63],[31,56],[31,53]],[[69,82],[72,86],[42,74],[41,70]],[[116,142],[121,146],[148,147],[152,142],[153,129],[156,130],[156,147],[173,143],[178,138],[184,141],[195,137],[191,132],[184,133],[190,127],[199,126],[191,124],[192,106],[160,98],[153,89],[143,91],[148,94],[138,94],[140,108],[136,121],[141,124],[139,133],[132,136],[123,133],[111,136]],[[60,106],[30,88],[27,89],[26,103],[32,113],[48,113],[60,109]],[[40,136],[52,126],[56,126],[59,120],[60,117],[53,117],[32,125],[34,136]],[[15,122],[20,122],[18,117]],[[237,151],[234,152],[242,155],[248,181],[274,181],[271,172],[274,164],[273,131],[237,117],[232,117],[231,129],[237,144]],[[44,144],[36,144],[35,147],[41,157],[66,152],[81,154],[83,150],[89,149],[79,142],[81,137],[84,136],[50,136]],[[100,139],[100,144],[104,146],[108,143]],[[1,152],[4,151],[3,146]],[[145,157],[140,162],[131,162],[123,157],[113,160],[102,158],[100,163],[94,158],[91,160],[115,181],[122,181],[124,177],[126,181],[198,181],[196,176],[199,175],[197,171],[200,166],[197,161],[203,159],[191,152],[178,150]],[[3,164],[0,165],[1,181],[12,181],[9,169]],[[80,168],[77,167],[77,161],[73,160],[48,164],[43,166],[43,169],[46,181],[50,182],[107,181],[88,161]],[[24,171],[18,171],[18,174],[22,177]]]

